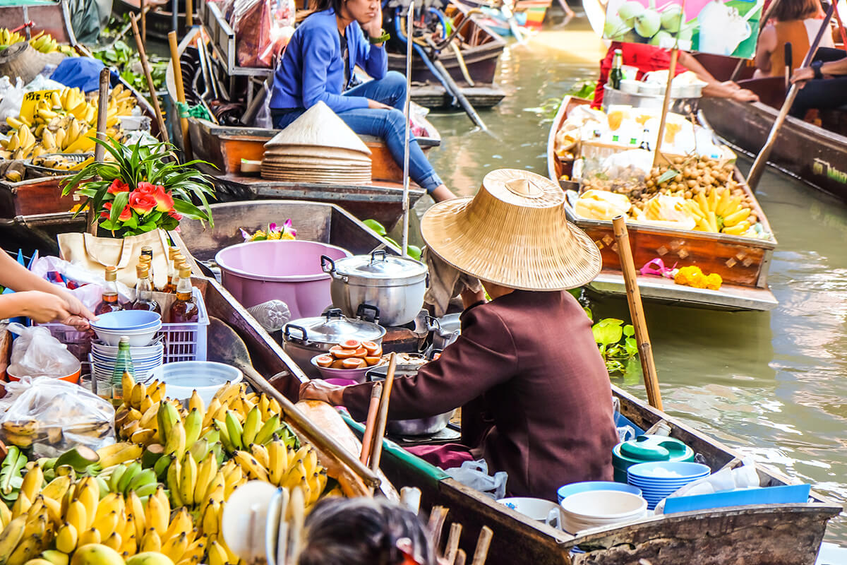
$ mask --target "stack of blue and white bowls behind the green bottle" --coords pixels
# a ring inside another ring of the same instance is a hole
[[[95,378],[108,379],[114,373],[120,338],[130,338],[130,357],[136,379],[146,379],[164,358],[164,345],[156,337],[162,317],[145,310],[121,310],[102,314],[91,328],[99,341],[91,341],[91,370]]]

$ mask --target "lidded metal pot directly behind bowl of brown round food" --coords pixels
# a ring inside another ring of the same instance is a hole
[[[374,341],[382,345],[385,328],[373,322],[346,318],[338,308],[323,316],[291,320],[282,330],[282,348],[311,379],[320,377],[312,357],[329,352],[340,341]]]

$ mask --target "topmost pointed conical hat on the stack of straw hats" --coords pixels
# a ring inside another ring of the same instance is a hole
[[[370,155],[364,141],[324,102],[318,102],[280,131],[265,147],[313,145],[352,149]]]

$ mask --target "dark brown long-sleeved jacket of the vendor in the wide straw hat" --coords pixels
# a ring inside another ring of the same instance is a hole
[[[462,443],[507,471],[512,496],[556,500],[556,489],[612,480],[609,376],[590,320],[567,292],[512,291],[462,313],[462,335],[417,375],[396,379],[392,419],[462,407]],[[344,392],[367,415],[372,385]]]

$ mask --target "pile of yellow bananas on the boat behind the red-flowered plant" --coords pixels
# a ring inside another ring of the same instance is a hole
[[[107,135],[117,139],[119,117],[132,114],[136,99],[123,86],[116,86],[108,98]],[[51,91],[36,102],[31,117],[6,119],[14,132],[0,141],[0,158],[36,158],[50,153],[82,153],[94,150],[97,135],[97,98],[86,99],[79,88]],[[74,168],[77,163],[74,163]],[[81,165],[80,165],[81,167]]]

